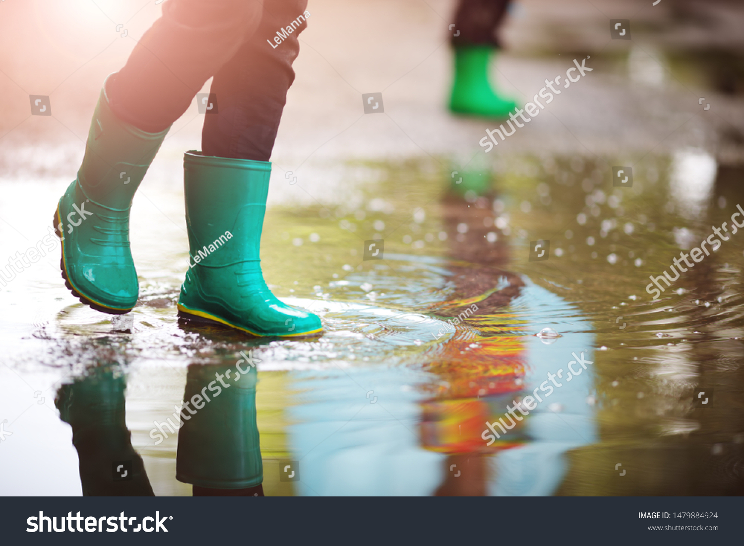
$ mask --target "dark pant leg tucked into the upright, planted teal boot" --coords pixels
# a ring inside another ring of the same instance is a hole
[[[307,0],[266,0],[258,30],[215,74],[211,92],[219,112],[205,116],[205,155],[269,161],[295,79],[292,62],[300,50],[298,34],[307,27],[306,6]],[[277,31],[288,26],[292,33],[277,44]]]

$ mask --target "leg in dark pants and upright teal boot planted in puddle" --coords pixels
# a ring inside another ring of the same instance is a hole
[[[205,115],[203,151],[184,159],[190,267],[179,298],[182,318],[254,335],[321,330],[316,315],[272,294],[260,266],[269,158],[295,78],[306,6],[307,0],[266,0],[257,32],[214,77],[218,112]],[[275,40],[280,29],[286,37]]]

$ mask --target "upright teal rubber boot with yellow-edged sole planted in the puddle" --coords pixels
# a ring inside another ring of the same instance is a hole
[[[268,161],[185,153],[190,252],[179,317],[216,321],[252,335],[321,331],[320,318],[285,305],[263,280],[261,229],[271,169]]]

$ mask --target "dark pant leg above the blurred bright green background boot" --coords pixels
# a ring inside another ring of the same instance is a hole
[[[510,0],[460,0],[455,13],[452,45],[499,45],[496,30],[506,15]]]

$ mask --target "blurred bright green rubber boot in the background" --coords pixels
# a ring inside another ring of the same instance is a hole
[[[455,48],[455,83],[449,109],[458,114],[486,118],[507,118],[516,103],[499,97],[490,84],[488,68],[496,48],[491,45],[466,45]]]

